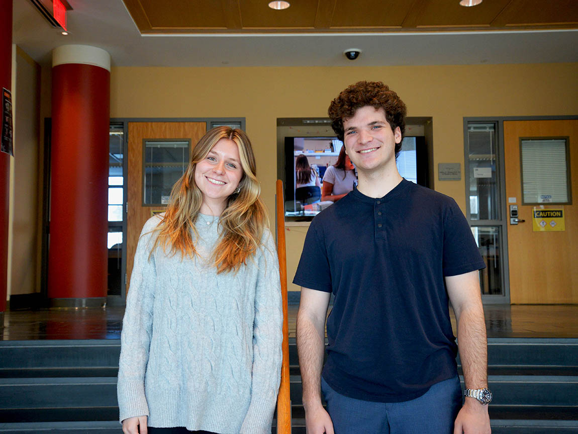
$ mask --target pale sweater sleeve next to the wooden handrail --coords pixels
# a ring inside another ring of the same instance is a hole
[[[251,403],[241,427],[241,434],[271,433],[281,380],[283,307],[279,261],[272,238],[271,233],[267,231],[258,262],[253,323]]]

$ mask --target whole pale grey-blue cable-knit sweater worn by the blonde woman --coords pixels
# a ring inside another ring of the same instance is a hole
[[[279,263],[271,232],[238,273],[209,258],[218,218],[199,215],[200,257],[149,253],[160,222],[143,227],[121,335],[120,420],[223,434],[271,433],[281,370]]]

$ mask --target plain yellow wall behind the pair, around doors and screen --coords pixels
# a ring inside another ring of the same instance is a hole
[[[324,117],[339,91],[381,80],[406,102],[409,116],[433,118],[433,167],[464,167],[463,118],[578,113],[578,64],[423,67],[132,68],[111,75],[111,117],[245,117],[258,176],[273,216],[277,117]],[[465,183],[435,189],[465,207]],[[274,220],[274,218],[272,218]],[[287,232],[291,281],[306,228]],[[298,289],[290,285],[290,289]]]

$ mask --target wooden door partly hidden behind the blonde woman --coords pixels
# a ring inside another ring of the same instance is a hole
[[[205,122],[129,122],[127,187],[127,294],[140,231],[153,211],[163,206],[143,205],[143,144],[146,139],[190,140],[191,149],[206,133]]]

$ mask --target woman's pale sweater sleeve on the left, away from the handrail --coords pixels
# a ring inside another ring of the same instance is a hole
[[[149,258],[149,253],[153,244],[151,230],[159,221],[154,216],[144,224],[132,267],[118,362],[117,396],[121,422],[129,417],[149,415],[144,396],[144,372],[153,332],[156,279],[154,256],[150,255]]]

